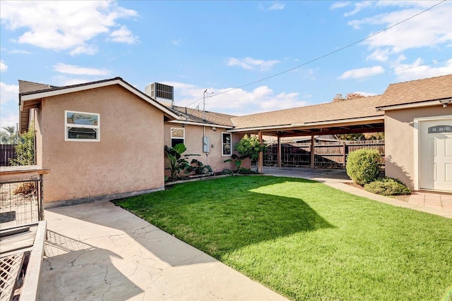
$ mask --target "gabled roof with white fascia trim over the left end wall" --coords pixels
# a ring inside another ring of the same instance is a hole
[[[78,85],[69,85],[64,87],[57,87],[51,85],[44,85],[37,82],[28,82],[25,80],[19,80],[19,119],[20,119],[20,130],[25,130],[28,127],[28,116],[29,111],[32,108],[36,108],[43,97],[52,97],[61,94],[67,94],[72,92],[79,92],[83,90],[90,90],[99,87],[107,87],[110,85],[120,85],[124,89],[129,90],[129,92],[140,97],[145,102],[155,106],[160,109],[165,116],[168,118],[179,118],[179,113],[169,109],[167,106],[160,104],[155,99],[151,98],[147,94],[141,92],[126,82],[122,78],[110,78],[107,80],[98,80],[95,82],[85,82]]]

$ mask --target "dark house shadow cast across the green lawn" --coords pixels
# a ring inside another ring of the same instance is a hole
[[[278,196],[278,190],[311,180],[230,177],[176,185],[115,201],[167,233],[216,258],[266,240],[333,226],[303,199]]]

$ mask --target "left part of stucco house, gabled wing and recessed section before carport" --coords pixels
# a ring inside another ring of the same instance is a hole
[[[51,171],[44,184],[47,207],[164,189],[163,149],[174,128],[191,153],[202,154],[202,137],[210,137],[210,160],[220,168],[230,167],[222,161],[232,154],[223,147],[240,139],[227,133],[222,141],[231,126],[221,114],[208,113],[220,124],[200,123],[121,78],[66,87],[20,80],[19,104],[20,130],[35,129],[36,164]]]

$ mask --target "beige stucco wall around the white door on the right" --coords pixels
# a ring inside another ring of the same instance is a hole
[[[451,108],[443,108],[441,105],[417,109],[386,111],[384,118],[386,176],[398,178],[408,185],[410,189],[414,189],[414,119],[450,114]]]

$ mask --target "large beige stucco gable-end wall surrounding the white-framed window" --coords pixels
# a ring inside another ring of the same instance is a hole
[[[65,110],[100,113],[100,142],[65,141]],[[38,119],[45,202],[164,187],[163,113],[119,85],[42,99]]]

